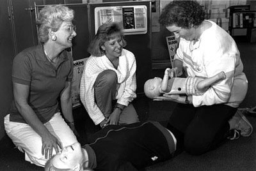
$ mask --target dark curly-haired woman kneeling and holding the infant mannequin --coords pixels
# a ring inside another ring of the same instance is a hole
[[[237,113],[248,84],[236,42],[204,16],[196,1],[172,1],[159,18],[160,24],[180,39],[170,78],[209,78],[220,71],[227,76],[200,95],[190,91],[186,96],[164,94],[154,98],[178,103],[168,129],[177,138],[177,147],[191,154],[203,154],[227,138],[248,137],[253,130],[246,117]],[[186,85],[193,90],[196,79],[191,80]]]

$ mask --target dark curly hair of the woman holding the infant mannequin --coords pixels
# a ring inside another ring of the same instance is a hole
[[[204,21],[205,11],[196,1],[172,1],[167,4],[160,17],[159,23],[163,26],[190,28],[199,26]]]

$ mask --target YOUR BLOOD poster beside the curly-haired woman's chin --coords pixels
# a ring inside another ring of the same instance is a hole
[[[173,67],[174,56],[175,56],[176,50],[179,46],[179,42],[175,38],[175,36],[167,36],[166,37],[166,43],[167,43],[167,47],[168,47],[170,61],[171,61],[172,67]]]

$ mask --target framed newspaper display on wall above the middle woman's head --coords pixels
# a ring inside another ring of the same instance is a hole
[[[95,34],[100,25],[118,22],[124,34],[147,33],[147,6],[100,6],[95,8]]]

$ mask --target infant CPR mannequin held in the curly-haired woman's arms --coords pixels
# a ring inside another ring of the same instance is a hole
[[[169,79],[170,68],[164,71],[164,77],[155,77],[147,80],[144,84],[144,92],[148,98],[166,94],[186,94],[186,95],[200,95],[212,84],[225,79],[226,75],[223,71],[209,78],[200,77],[187,77],[179,78],[174,77]]]

